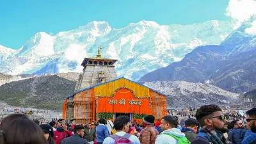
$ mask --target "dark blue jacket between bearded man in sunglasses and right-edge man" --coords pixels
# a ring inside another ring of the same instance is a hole
[[[243,139],[244,139],[244,135],[245,135],[246,130],[244,129],[237,129],[234,128],[232,130],[232,132],[230,132],[230,134],[228,135],[228,141],[234,143],[234,144],[240,144],[242,143]]]

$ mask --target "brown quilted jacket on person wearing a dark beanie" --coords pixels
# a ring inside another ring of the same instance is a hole
[[[147,125],[140,133],[140,143],[155,144],[157,135],[159,135],[159,132],[155,129],[154,125]]]

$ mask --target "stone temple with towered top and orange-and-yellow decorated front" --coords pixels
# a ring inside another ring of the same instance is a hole
[[[106,118],[127,115],[141,122],[145,115],[156,120],[167,114],[166,95],[142,84],[117,77],[117,60],[102,58],[101,47],[95,58],[84,58],[75,92],[63,104],[63,118],[73,124],[87,124]]]

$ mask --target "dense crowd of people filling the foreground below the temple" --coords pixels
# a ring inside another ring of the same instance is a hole
[[[245,120],[244,120],[245,119]],[[181,122],[181,121],[184,122]],[[197,109],[195,118],[179,120],[166,115],[156,122],[147,115],[143,124],[118,116],[114,122],[100,118],[92,124],[68,125],[65,120],[38,124],[26,115],[6,116],[0,124],[1,144],[253,144],[256,143],[256,108],[227,121],[219,106]],[[246,127],[243,127],[243,120]]]

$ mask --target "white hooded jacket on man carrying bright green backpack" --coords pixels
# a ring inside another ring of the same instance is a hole
[[[177,144],[178,143],[178,140],[164,133],[173,134],[175,136],[178,136],[179,138],[185,137],[185,134],[182,133],[179,129],[172,128],[172,129],[168,129],[166,131],[161,132],[161,134],[157,136],[155,144]]]

